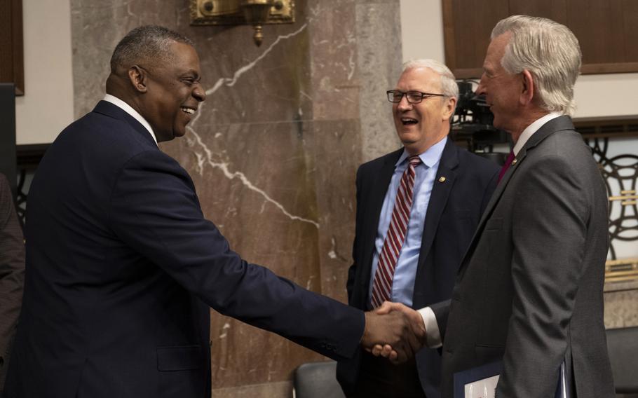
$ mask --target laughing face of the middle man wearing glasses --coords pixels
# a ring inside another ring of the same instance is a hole
[[[430,68],[407,69],[395,90],[441,94],[441,78]],[[410,155],[423,153],[447,136],[455,105],[454,97],[424,97],[419,104],[410,104],[405,95],[392,104],[397,135]]]

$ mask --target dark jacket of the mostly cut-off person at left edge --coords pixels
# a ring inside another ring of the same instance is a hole
[[[25,242],[13,206],[11,187],[0,174],[0,392],[4,387],[11,342],[18,324],[25,279]]]

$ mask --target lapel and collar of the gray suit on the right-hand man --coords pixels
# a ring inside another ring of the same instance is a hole
[[[534,151],[536,146],[538,146],[538,144],[541,144],[541,142],[543,142],[545,138],[561,130],[573,130],[573,123],[571,123],[571,118],[569,118],[569,116],[559,116],[558,118],[552,119],[542,125],[541,128],[538,129],[538,131],[536,131],[533,135],[531,135],[531,137],[529,137],[525,145],[519,151],[516,156],[516,163],[510,166],[508,171],[505,172],[505,175],[503,175],[503,179],[501,179],[501,182],[499,182],[496,186],[496,190],[491,195],[489,203],[487,203],[487,206],[485,207],[485,211],[483,212],[481,221],[479,221],[474,236],[472,237],[470,247],[466,251],[465,256],[463,256],[463,261],[461,261],[461,267],[459,268],[458,274],[459,277],[462,277],[463,275],[465,267],[467,266],[470,256],[474,252],[477,240],[482,234],[487,219],[491,217],[491,212],[494,211],[494,207],[496,207],[498,201],[501,200],[501,196],[503,195],[505,188],[507,188],[508,183],[512,179],[513,175],[517,172],[518,169],[520,169],[520,165],[524,162],[525,158],[527,158],[527,154],[529,153],[529,151]]]

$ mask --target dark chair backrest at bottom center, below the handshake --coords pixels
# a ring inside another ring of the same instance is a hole
[[[346,398],[337,382],[337,362],[308,362],[294,370],[293,397]]]

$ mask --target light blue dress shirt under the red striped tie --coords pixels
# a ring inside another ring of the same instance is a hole
[[[416,178],[414,179],[414,189],[412,191],[412,210],[410,211],[410,219],[407,224],[405,242],[403,242],[397,266],[394,270],[391,291],[391,301],[403,303],[408,307],[412,306],[416,266],[419,264],[421,237],[423,235],[423,226],[426,224],[426,211],[428,210],[428,203],[430,203],[430,193],[432,193],[436,172],[439,170],[439,163],[446,142],[447,137],[421,153],[419,155],[421,163],[415,168]],[[401,177],[407,167],[408,157],[407,151],[404,150],[395,164],[394,174],[388,186],[388,191],[386,191],[386,198],[384,198],[384,205],[381,207],[379,226],[376,229],[376,238],[374,240],[374,256],[372,257],[368,303],[370,302],[372,294],[376,267],[379,263],[379,254],[384,247],[384,240],[386,239],[386,233],[388,233],[388,227],[390,226],[390,220],[392,218],[392,211],[394,210],[395,198]]]

